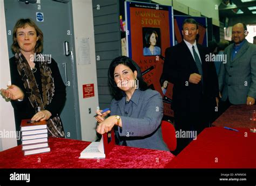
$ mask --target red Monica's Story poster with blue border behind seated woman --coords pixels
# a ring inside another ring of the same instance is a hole
[[[161,78],[165,49],[174,45],[173,9],[149,3],[126,2],[128,56],[137,62],[144,80],[163,96],[164,120],[172,120],[173,85]]]

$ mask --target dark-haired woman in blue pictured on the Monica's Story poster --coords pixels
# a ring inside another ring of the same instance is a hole
[[[143,55],[161,55],[161,48],[156,46],[158,35],[156,31],[149,30],[145,35],[146,47],[143,48]]]

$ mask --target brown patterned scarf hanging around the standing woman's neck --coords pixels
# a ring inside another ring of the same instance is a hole
[[[55,92],[55,86],[53,77],[51,76],[51,69],[47,65],[47,62],[44,60],[43,55],[37,54],[36,58],[40,59],[39,67],[41,72],[43,99],[40,95],[36,78],[33,75],[28,61],[26,61],[22,53],[15,54],[18,73],[21,76],[22,81],[24,82],[26,94],[28,95],[29,101],[33,109],[35,109],[36,112],[39,112],[41,110],[44,110],[45,106],[51,103]],[[65,138],[62,121],[60,120],[58,115],[48,119],[47,126],[48,132],[50,135],[52,135],[52,137]]]

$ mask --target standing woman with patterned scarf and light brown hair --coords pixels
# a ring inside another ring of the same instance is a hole
[[[19,19],[12,40],[11,85],[1,91],[11,99],[16,130],[20,131],[22,119],[47,120],[50,135],[65,137],[58,115],[65,104],[66,87],[55,60],[45,60],[41,54],[43,32],[31,19]]]

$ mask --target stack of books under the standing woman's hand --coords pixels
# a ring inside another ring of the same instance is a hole
[[[22,120],[22,151],[24,155],[50,152],[46,121]]]

